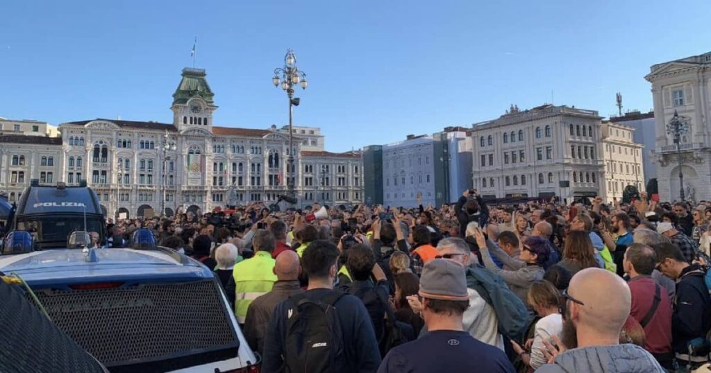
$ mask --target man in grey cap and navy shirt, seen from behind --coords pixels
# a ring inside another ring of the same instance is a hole
[[[379,373],[515,372],[501,350],[462,330],[462,314],[469,307],[464,266],[447,259],[427,262],[419,296],[429,333],[390,350]]]

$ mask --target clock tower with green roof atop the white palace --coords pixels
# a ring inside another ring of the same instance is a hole
[[[218,107],[213,102],[215,94],[205,79],[204,69],[186,67],[178,89],[173,93],[173,124],[178,131],[202,128],[213,131],[213,112]]]

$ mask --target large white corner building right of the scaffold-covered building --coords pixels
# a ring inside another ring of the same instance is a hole
[[[474,124],[474,188],[484,198],[604,195],[601,117],[545,104]]]

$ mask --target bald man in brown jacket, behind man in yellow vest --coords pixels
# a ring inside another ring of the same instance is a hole
[[[264,352],[264,334],[267,333],[274,308],[290,296],[303,292],[299,287],[301,266],[296,252],[287,250],[279,254],[273,271],[277,275],[277,282],[274,283],[272,291],[258,296],[250,304],[245,318],[245,327],[242,329],[252,350],[256,350],[260,355]]]

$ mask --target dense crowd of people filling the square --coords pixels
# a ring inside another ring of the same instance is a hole
[[[709,362],[711,202],[321,207],[109,222],[109,245],[153,229],[215,271],[262,372]]]

